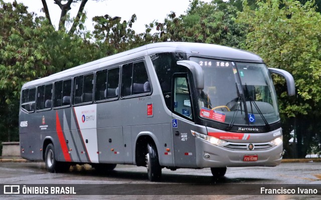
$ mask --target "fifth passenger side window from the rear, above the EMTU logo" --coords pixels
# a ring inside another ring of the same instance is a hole
[[[118,97],[119,68],[99,71],[96,73],[95,100]]]

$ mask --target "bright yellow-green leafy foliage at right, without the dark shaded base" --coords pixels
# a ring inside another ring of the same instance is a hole
[[[278,0],[259,2],[255,11],[245,6],[239,20],[251,28],[246,39],[248,49],[262,56],[269,66],[283,68],[295,77],[298,100],[302,101],[283,104],[285,109],[292,110],[287,114],[306,114],[310,111],[306,108],[319,106],[321,100],[321,15],[311,2],[283,3],[285,6],[279,8]],[[301,106],[307,100],[312,100],[312,107]]]

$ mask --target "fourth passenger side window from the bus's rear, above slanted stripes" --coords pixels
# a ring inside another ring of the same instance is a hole
[[[75,78],[74,104],[92,102],[94,74],[78,76]]]

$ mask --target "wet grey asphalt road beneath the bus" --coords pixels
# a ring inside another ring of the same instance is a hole
[[[154,183],[148,181],[145,167],[133,165],[117,165],[109,173],[99,173],[88,164],[73,166],[66,173],[49,173],[45,169],[44,162],[0,162],[0,184],[27,184],[27,186],[28,184],[82,184],[84,186],[82,188],[84,190],[80,192],[82,194],[93,194],[92,191],[95,189],[98,193],[104,191],[102,194],[106,192],[118,194],[0,195],[0,199],[52,199],[53,197],[64,199],[173,199],[170,194],[176,193],[179,194],[175,195],[176,199],[248,199],[253,198],[251,194],[256,194],[257,190],[266,184],[277,184],[274,185],[276,188],[286,188],[288,184],[321,185],[320,166],[320,162],[309,162],[281,163],[276,167],[233,167],[228,168],[225,177],[220,180],[213,179],[208,168],[178,169],[176,171],[163,169],[161,181]],[[320,194],[321,186],[317,188]],[[235,190],[232,192],[233,195],[230,195],[231,190]],[[248,190],[249,195],[235,195],[238,192],[244,194],[242,190]],[[194,195],[184,195],[185,193]],[[213,195],[216,193],[219,195]],[[320,197],[320,195],[309,194],[260,195],[259,198],[319,199]]]

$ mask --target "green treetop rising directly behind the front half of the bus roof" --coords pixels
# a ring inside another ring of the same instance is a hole
[[[235,23],[237,7],[223,0],[205,3],[191,1],[186,15],[170,13],[164,22],[153,21],[146,26],[145,38],[155,28],[151,41],[190,41],[238,47],[245,39],[246,26]]]

